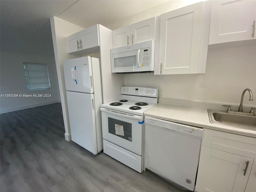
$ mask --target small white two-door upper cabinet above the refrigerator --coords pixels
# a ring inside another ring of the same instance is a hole
[[[98,24],[72,34],[68,36],[66,40],[68,53],[85,55],[99,52],[100,42]]]

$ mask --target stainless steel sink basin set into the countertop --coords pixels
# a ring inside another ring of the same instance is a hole
[[[230,114],[225,111],[208,109],[208,115],[212,124],[256,130],[256,116],[242,114]]]

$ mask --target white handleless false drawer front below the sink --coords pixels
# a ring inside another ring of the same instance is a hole
[[[202,146],[256,158],[256,138],[204,129]]]

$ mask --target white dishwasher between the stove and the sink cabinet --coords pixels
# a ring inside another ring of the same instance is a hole
[[[202,128],[145,117],[144,166],[176,186],[193,191]]]

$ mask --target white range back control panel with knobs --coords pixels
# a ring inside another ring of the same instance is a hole
[[[121,87],[121,94],[158,97],[158,88],[155,87]]]

